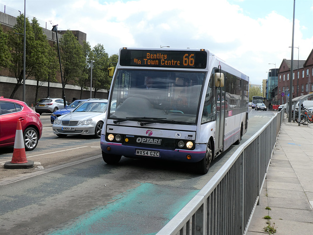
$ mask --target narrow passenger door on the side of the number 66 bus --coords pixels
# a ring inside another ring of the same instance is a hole
[[[215,135],[215,153],[223,150],[224,144],[224,87],[216,88],[216,135]]]

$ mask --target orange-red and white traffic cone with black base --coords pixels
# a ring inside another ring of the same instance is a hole
[[[33,161],[27,161],[25,145],[23,141],[23,131],[21,121],[18,120],[15,133],[14,150],[11,162],[6,162],[4,168],[9,169],[20,169],[20,168],[31,168],[34,166]]]

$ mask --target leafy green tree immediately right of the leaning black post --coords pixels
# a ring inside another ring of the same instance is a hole
[[[70,30],[67,30],[60,39],[60,54],[64,86],[70,81],[77,83],[77,78],[82,76],[85,68],[86,57],[82,45]]]

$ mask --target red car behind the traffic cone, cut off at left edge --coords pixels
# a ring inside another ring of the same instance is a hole
[[[0,147],[14,146],[18,120],[21,120],[25,150],[36,148],[43,132],[40,114],[26,103],[0,96]]]

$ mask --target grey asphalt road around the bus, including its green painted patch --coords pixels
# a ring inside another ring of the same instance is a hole
[[[249,109],[241,143],[274,113]],[[0,234],[156,234],[209,181],[239,145],[231,146],[206,175],[189,164],[122,158],[103,162],[100,141],[58,138],[49,116],[37,148],[26,152],[31,169],[0,167]],[[1,149],[0,162],[13,149]]]

